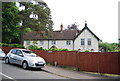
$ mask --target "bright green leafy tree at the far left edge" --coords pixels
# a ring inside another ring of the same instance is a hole
[[[20,31],[16,16],[19,10],[15,2],[2,2],[2,42],[19,42]],[[17,40],[17,41],[16,41]]]

